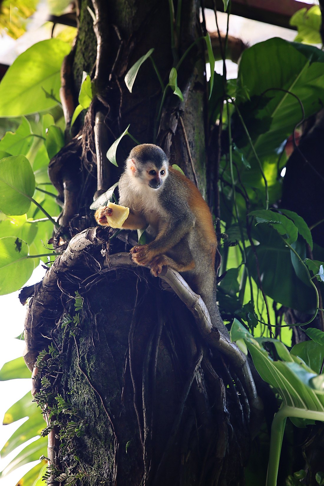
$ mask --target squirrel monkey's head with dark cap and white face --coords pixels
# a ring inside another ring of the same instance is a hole
[[[126,160],[126,171],[138,184],[159,189],[168,176],[169,160],[163,150],[152,143],[137,145]]]

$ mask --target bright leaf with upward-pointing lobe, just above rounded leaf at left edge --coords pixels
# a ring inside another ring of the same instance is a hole
[[[0,151],[5,151],[8,155],[27,155],[34,141],[31,133],[30,123],[23,117],[16,132],[6,132],[0,140]]]

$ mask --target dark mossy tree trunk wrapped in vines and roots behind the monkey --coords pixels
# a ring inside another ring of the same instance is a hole
[[[88,7],[97,17],[94,28]],[[257,414],[259,407],[245,357],[208,328],[210,322],[199,330],[196,304],[189,312],[163,278],[153,278],[146,268],[116,265],[113,257],[109,263],[108,253],[128,251],[134,235],[122,232],[109,245],[111,232],[86,229],[94,226],[89,210],[94,193],[118,180],[134,146],[127,136],[120,141],[118,168],[106,159],[129,124],[133,137],[159,144],[171,164],[213,201],[207,178],[217,167],[206,157],[199,7],[182,1],[180,35],[172,43],[167,1],[80,1],[78,36],[62,68],[67,122],[84,70],[96,96],[83,126],[78,121],[80,131],[69,139],[67,130],[67,146],[50,164],[51,180],[65,202],[53,242],[65,251],[35,289],[25,324],[31,369],[46,350],[34,377],[49,424],[49,484],[77,484],[81,478],[84,486],[244,484],[250,411]],[[167,85],[172,66],[195,41],[178,69],[184,101],[169,89],[157,123],[162,92],[151,61],[139,69],[132,93],[125,74],[154,48]]]

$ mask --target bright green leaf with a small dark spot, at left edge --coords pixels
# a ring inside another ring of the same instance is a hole
[[[15,292],[31,277],[34,262],[28,252],[28,244],[19,238],[0,238],[0,295]]]

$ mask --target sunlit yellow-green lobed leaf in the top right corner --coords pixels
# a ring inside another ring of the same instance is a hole
[[[306,44],[321,44],[321,10],[318,5],[310,9],[301,8],[290,18],[290,25],[297,27],[298,34],[295,42],[305,42]]]

